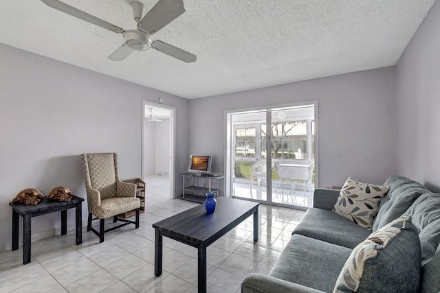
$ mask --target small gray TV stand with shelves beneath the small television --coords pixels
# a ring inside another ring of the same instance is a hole
[[[205,194],[208,192],[214,192],[216,196],[219,196],[219,180],[225,178],[225,176],[222,175],[214,176],[212,174],[197,175],[194,173],[184,173],[179,175],[184,178],[182,198],[185,198],[186,195],[203,196],[203,198],[205,198]],[[212,187],[212,180],[216,183],[215,187]],[[206,184],[208,184],[208,187]]]

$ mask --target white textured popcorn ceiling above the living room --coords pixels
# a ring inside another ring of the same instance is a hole
[[[63,0],[135,28],[129,0]],[[197,55],[153,49],[107,59],[115,34],[37,0],[0,3],[0,43],[188,99],[395,65],[435,0],[184,0],[153,35]],[[142,0],[150,10],[156,0]]]

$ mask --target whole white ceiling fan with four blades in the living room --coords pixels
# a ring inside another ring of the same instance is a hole
[[[131,8],[133,8],[133,18],[137,23],[136,30],[124,30],[58,0],[41,1],[56,10],[78,17],[78,19],[83,19],[83,21],[93,23],[117,34],[122,34],[125,43],[108,57],[110,60],[121,61],[129,56],[133,50],[144,51],[150,47],[187,63],[197,60],[197,56],[194,54],[167,44],[162,40],[153,40],[151,37],[162,27],[168,25],[168,23],[177,19],[178,16],[185,12],[183,0],[159,0],[146,14],[143,3],[132,1]]]

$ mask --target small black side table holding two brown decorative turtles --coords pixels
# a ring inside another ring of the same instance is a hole
[[[67,209],[76,208],[76,245],[83,242],[81,202],[84,198],[72,196],[69,202],[46,200],[39,204],[13,204],[12,207],[12,251],[19,249],[19,215],[23,217],[23,264],[30,263],[31,218],[46,213],[61,211],[61,235],[67,234]]]

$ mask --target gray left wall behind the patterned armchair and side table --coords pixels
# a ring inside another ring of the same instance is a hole
[[[117,152],[120,177],[140,176],[142,99],[157,102],[160,96],[177,108],[176,171],[186,171],[187,99],[1,44],[0,64],[0,250],[10,247],[8,202],[22,189],[47,194],[65,185],[86,197],[81,153]],[[74,212],[67,214],[72,229]],[[59,231],[60,218],[56,213],[32,219],[32,235]]]

